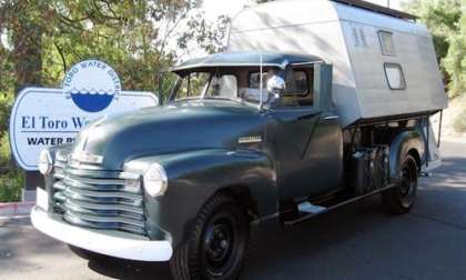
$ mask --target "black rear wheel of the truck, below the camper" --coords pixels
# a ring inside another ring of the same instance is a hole
[[[416,160],[407,154],[399,168],[398,186],[382,193],[384,207],[394,214],[409,212],[416,201],[417,193],[417,164]]]

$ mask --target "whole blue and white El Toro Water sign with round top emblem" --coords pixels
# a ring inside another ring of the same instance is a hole
[[[159,103],[152,92],[123,91],[115,71],[97,60],[73,66],[62,86],[62,89],[26,88],[14,101],[10,143],[24,170],[38,170],[43,148],[73,142],[92,120]]]

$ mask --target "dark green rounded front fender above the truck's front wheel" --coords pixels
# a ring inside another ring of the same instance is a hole
[[[151,238],[163,232],[176,247],[191,231],[191,221],[205,201],[224,188],[247,187],[260,217],[276,212],[275,169],[261,152],[209,149],[146,157],[126,163],[126,171],[143,173],[152,162],[165,169],[169,187],[163,197],[144,196]]]

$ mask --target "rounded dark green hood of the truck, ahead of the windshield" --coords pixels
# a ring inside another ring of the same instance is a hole
[[[100,119],[80,132],[72,152],[103,157],[102,168],[194,149],[235,149],[239,137],[263,136],[257,108],[226,100],[181,101]]]

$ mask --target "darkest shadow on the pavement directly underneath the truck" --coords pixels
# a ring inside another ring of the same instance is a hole
[[[347,206],[295,228],[255,229],[250,259],[242,279],[270,279],[267,274],[270,267],[278,270],[282,268],[283,271],[284,263],[290,264],[290,260],[300,260],[302,257],[304,257],[302,260],[308,260],[313,254],[320,254],[337,243],[361,236],[363,231],[371,232],[379,222],[389,223],[392,216],[382,211],[378,202],[378,197],[374,197],[363,203]],[[301,264],[306,266],[302,262]],[[91,260],[88,267],[100,274],[118,279],[172,279],[168,262],[138,262],[107,258]],[[250,272],[250,269],[253,271]],[[277,279],[284,278],[282,276]]]

